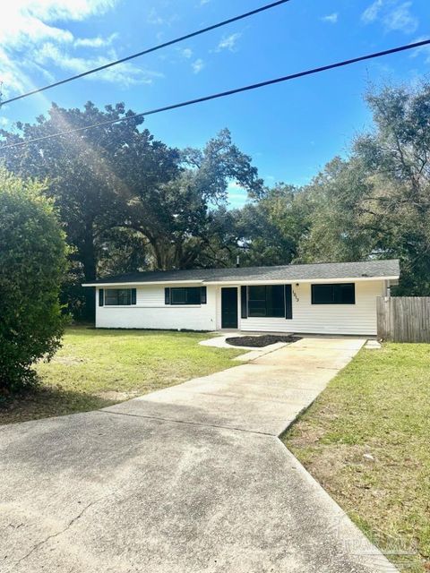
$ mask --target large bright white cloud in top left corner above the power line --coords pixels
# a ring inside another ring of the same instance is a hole
[[[107,38],[75,37],[69,21],[83,21],[115,7],[117,0],[13,0],[2,6],[0,19],[0,81],[3,95],[37,87],[31,77],[53,81],[56,70],[81,73],[117,59],[112,47],[117,34]],[[104,48],[103,55],[97,50]],[[82,50],[79,57],[73,50]],[[96,50],[86,57],[87,50]],[[53,75],[54,74],[54,75]],[[57,76],[56,76],[57,77]],[[150,83],[160,74],[125,63],[89,79],[114,82],[121,86]]]

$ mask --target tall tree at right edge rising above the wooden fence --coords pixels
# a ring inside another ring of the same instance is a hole
[[[355,143],[372,184],[362,210],[382,229],[379,250],[400,257],[397,292],[430,295],[430,82],[387,86],[367,102],[376,129]]]

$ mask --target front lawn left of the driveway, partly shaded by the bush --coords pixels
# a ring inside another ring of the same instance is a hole
[[[40,386],[0,410],[16,423],[110,406],[230,366],[243,350],[200,346],[207,334],[67,329],[62,348],[39,363]]]

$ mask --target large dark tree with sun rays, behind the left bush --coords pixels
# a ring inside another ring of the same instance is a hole
[[[67,241],[73,246],[75,277],[81,282],[97,278],[107,235],[111,237],[111,230],[124,224],[136,188],[144,192],[167,183],[178,171],[177,151],[155,141],[148,130],[139,131],[143,119],[132,115],[122,103],[104,111],[91,102],[83,111],[53,104],[48,116],[39,116],[35,124],[17,124],[19,134],[0,131],[7,144],[130,117],[13,148],[4,157],[5,166],[15,174],[51,181],[47,192],[64,222]],[[127,186],[129,175],[133,189]],[[94,308],[90,291],[85,292],[89,318]]]

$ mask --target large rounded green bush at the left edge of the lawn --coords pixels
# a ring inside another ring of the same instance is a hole
[[[36,381],[31,365],[60,345],[64,232],[43,185],[0,169],[0,397]]]

